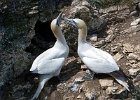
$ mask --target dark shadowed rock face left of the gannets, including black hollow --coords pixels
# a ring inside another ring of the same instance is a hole
[[[71,0],[0,1],[0,97],[13,80],[28,73],[33,59],[53,46],[50,22]]]

